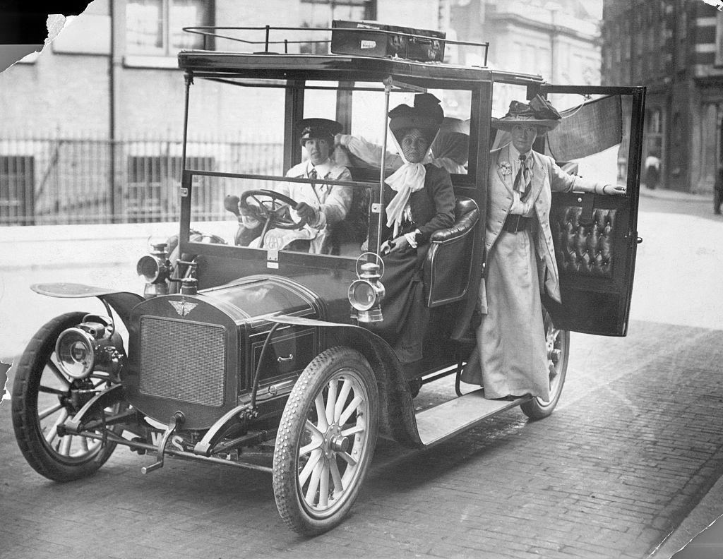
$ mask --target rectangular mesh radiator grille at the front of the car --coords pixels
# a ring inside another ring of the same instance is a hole
[[[225,328],[142,317],[140,340],[142,394],[223,406]]]

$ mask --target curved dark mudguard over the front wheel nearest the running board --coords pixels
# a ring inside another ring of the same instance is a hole
[[[344,345],[360,351],[367,358],[379,386],[380,429],[382,434],[402,445],[424,448],[419,438],[409,385],[394,350],[380,336],[352,324],[329,323],[313,318],[276,315],[265,317],[270,322],[328,328],[333,345]]]

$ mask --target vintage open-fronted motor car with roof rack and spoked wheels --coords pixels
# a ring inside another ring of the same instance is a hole
[[[556,86],[540,76],[490,69],[486,44],[369,23],[322,30],[332,35],[328,54],[286,52],[294,45],[288,39],[294,30],[286,28],[262,28],[262,40],[234,35],[259,31],[249,27],[187,31],[213,40],[215,48],[179,54],[185,78],[179,235],[153,244],[138,262],[142,294],[69,283],[32,286],[48,296],[95,297],[104,307],[87,312],[79,302],[78,312],[53,318],[20,359],[14,430],[40,474],[59,482],[87,477],[118,445],[155,455],[143,473],[161,468],[169,456],[266,471],[286,524],[319,534],[348,514],[377,434],[425,448],[516,406],[542,419],[560,398],[570,331],[625,336],[639,241],[644,88]],[[222,50],[223,40],[264,50]],[[387,40],[392,52],[362,48]],[[451,45],[477,48],[480,65],[443,61]],[[214,105],[219,89],[228,103]],[[431,237],[424,263],[431,328],[424,359],[408,367],[370,328],[385,312],[380,231],[390,168],[384,157],[375,165],[335,150],[351,180],[324,182],[350,187],[353,198],[341,226],[330,227],[327,251],[272,247],[265,235],[304,227],[291,211],[297,200],[276,189],[289,182],[315,186],[313,179],[285,176],[302,158],[297,122],[334,119],[347,133],[372,137],[384,153],[392,149],[390,106],[425,91],[442,100],[448,116],[469,121],[469,157],[463,172],[451,175],[455,223]],[[569,107],[536,150],[569,172],[607,174],[611,182],[626,174],[627,194],[553,193],[562,304],[544,299],[551,396],[489,400],[459,380],[474,346],[489,151],[505,142],[491,119],[510,99],[536,94]],[[278,135],[283,157],[276,170],[259,173],[257,161],[239,154],[218,156],[226,168],[194,168],[189,137],[205,131],[210,111],[231,127]],[[255,242],[244,240],[249,218],[262,228]],[[415,411],[422,385],[452,378],[453,398]]]

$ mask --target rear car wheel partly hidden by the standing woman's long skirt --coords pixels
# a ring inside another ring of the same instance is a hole
[[[547,340],[547,362],[550,367],[550,398],[544,401],[542,398],[532,398],[521,404],[520,409],[530,419],[544,419],[555,411],[555,406],[560,400],[562,386],[565,385],[565,375],[568,372],[568,359],[570,357],[570,332],[569,330],[556,330],[552,324],[547,310],[542,310],[545,338]],[[554,373],[553,373],[554,370]]]

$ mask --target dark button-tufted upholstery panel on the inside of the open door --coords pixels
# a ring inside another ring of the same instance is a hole
[[[550,216],[560,275],[612,277],[615,212],[596,209],[591,223],[581,222],[582,208],[561,206]]]

